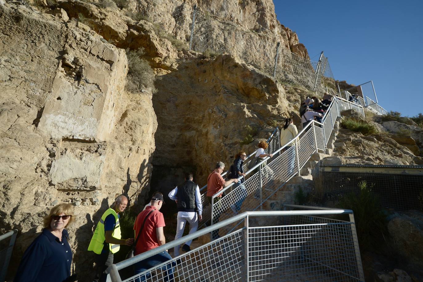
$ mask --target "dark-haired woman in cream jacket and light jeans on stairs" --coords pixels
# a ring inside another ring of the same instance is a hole
[[[288,160],[288,168],[287,172],[289,177],[294,174],[294,167],[295,167],[295,141],[294,137],[298,134],[297,126],[295,126],[292,122],[292,118],[287,118],[285,120],[285,125],[280,130],[280,145],[284,146],[288,144],[284,149],[283,152],[286,154],[286,159]],[[297,142],[298,142],[297,138]],[[287,152],[288,151],[288,152]]]

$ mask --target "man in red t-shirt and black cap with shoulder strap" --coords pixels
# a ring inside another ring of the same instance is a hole
[[[165,234],[163,233],[165,219],[163,218],[163,214],[159,211],[164,203],[165,201],[163,200],[162,193],[154,192],[150,202],[151,205],[147,206],[144,211],[138,214],[134,224],[134,234],[135,238],[137,238],[137,236],[139,236],[139,238],[135,246],[134,255],[147,252],[166,243]],[[135,274],[139,274],[171,259],[172,257],[166,251],[153,255],[148,259],[135,263]],[[168,263],[166,266],[162,267],[162,270],[165,271],[163,275],[164,281],[173,281],[173,267],[174,263]],[[150,273],[146,273],[135,281],[145,281],[149,277]]]

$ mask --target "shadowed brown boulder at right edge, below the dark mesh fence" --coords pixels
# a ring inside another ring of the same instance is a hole
[[[393,216],[388,223],[388,231],[396,242],[394,247],[401,258],[422,269],[423,213],[406,211]]]

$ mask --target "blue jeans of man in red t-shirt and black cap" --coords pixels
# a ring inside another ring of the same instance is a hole
[[[140,274],[143,271],[146,271],[149,268],[157,266],[165,261],[171,260],[172,257],[168,254],[168,252],[164,251],[152,257],[149,257],[145,260],[141,260],[134,265],[134,273]],[[175,262],[170,264],[166,264],[162,266],[162,271],[164,271],[163,281],[173,281],[173,268],[176,266]],[[139,278],[135,278],[135,282],[146,281],[146,279],[150,278],[151,274],[148,272]]]

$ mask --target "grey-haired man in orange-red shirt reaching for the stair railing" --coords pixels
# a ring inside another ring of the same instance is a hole
[[[225,170],[225,164],[223,162],[218,162],[216,164],[216,167],[214,167],[214,170],[209,174],[209,177],[207,178],[207,199],[209,200],[209,203],[211,203],[211,196],[219,192],[223,189],[223,186],[228,186],[232,182],[237,183],[238,179],[232,178],[228,181],[225,181],[222,177],[222,172]],[[222,194],[217,195],[217,197],[214,198],[214,207],[216,206],[216,203],[222,199]],[[217,214],[213,216],[213,224],[219,222],[220,214]],[[219,229],[214,230],[211,233],[212,240],[215,240],[219,238]]]

